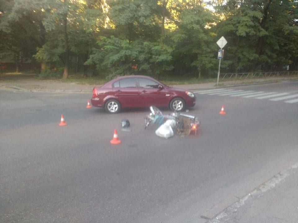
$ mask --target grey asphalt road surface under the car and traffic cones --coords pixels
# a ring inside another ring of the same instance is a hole
[[[298,82],[233,90],[295,95]],[[298,160],[298,103],[197,94],[198,134],[163,139],[144,130],[148,109],[110,115],[90,97],[0,89],[0,222],[206,222]],[[123,118],[132,132],[111,145]]]

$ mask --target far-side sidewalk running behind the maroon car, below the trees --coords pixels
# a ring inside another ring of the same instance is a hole
[[[275,83],[279,81],[298,80],[297,76],[293,77],[268,77],[249,80],[234,80],[219,82],[218,87],[233,87],[241,85],[256,85]],[[23,79],[1,81],[0,87],[11,88],[21,91],[31,92],[92,92],[95,85],[77,84],[69,82],[58,82],[51,80],[36,80],[36,79]],[[202,84],[187,84],[187,85],[172,85],[173,87],[182,88],[185,90],[201,90],[216,88],[216,83],[202,83]]]

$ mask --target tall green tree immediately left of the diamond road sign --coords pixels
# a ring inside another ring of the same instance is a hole
[[[214,18],[200,1],[183,1],[177,16],[177,29],[172,40],[176,42],[175,60],[181,61],[178,69],[184,72],[209,73],[216,63]],[[178,63],[179,64],[179,63]]]

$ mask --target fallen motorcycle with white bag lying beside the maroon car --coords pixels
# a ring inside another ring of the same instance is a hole
[[[163,138],[174,136],[174,131],[182,137],[190,135],[191,132],[194,132],[196,135],[197,128],[201,124],[196,116],[176,111],[170,115],[163,115],[155,106],[150,106],[150,114],[145,117],[145,129],[151,123],[160,125],[155,133]]]

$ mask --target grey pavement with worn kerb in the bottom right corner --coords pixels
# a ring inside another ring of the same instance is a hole
[[[298,222],[298,164],[278,173],[208,223]]]

